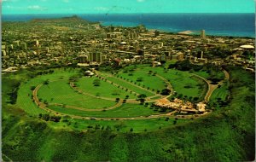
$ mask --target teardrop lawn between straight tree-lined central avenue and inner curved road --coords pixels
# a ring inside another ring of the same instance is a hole
[[[131,95],[129,92],[122,90],[113,84],[109,84],[103,80],[100,80],[99,86],[94,86],[93,82],[99,78],[96,77],[84,77],[80,78],[79,81],[76,83],[80,90],[84,92],[90,93],[91,95],[98,95],[103,97],[109,98],[122,98],[125,99],[126,95],[129,95],[129,98],[136,98],[135,95]]]

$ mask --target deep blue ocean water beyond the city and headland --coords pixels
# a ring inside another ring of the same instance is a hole
[[[3,21],[60,18],[73,14],[6,14]],[[255,14],[77,14],[102,25],[137,26],[166,32],[201,31],[207,35],[255,38]]]

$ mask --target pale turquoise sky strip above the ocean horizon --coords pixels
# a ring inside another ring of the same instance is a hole
[[[0,0],[0,2],[3,14],[255,12],[254,0]]]

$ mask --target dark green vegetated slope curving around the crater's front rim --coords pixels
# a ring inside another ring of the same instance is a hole
[[[3,153],[14,161],[253,160],[254,76],[239,67],[228,70],[230,101],[226,107],[205,118],[153,132],[54,129],[19,107],[3,104]],[[15,88],[12,79],[3,78],[3,101],[9,100],[9,92]]]

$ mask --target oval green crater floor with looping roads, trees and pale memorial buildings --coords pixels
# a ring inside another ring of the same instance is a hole
[[[221,88],[227,84],[226,78],[213,85],[207,77],[205,71],[183,72],[149,64],[113,72],[56,68],[26,78],[20,84],[16,105],[42,118],[48,114],[78,120],[71,126],[81,130],[99,124],[123,132],[131,128],[141,132],[211,113],[207,108],[210,99],[225,99],[228,91]],[[116,126],[120,122],[122,126]],[[62,127],[67,125],[61,122]]]

